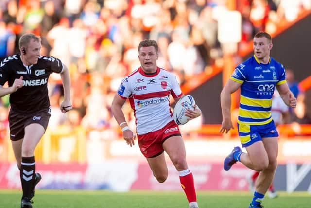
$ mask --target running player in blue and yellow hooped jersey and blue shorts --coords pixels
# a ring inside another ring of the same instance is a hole
[[[260,171],[256,180],[254,198],[249,208],[261,208],[261,202],[276,171],[278,151],[275,123],[271,117],[272,95],[275,87],[284,103],[296,107],[296,98],[286,83],[282,64],[270,57],[272,38],[266,32],[258,32],[253,39],[254,56],[237,66],[220,95],[223,122],[220,132],[233,129],[230,94],[241,88],[238,132],[242,147],[234,147],[225,158],[227,171],[236,162]]]

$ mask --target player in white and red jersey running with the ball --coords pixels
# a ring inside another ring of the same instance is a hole
[[[136,135],[128,127],[121,109],[126,99],[129,99],[136,118],[138,145],[156,180],[163,183],[168,177],[165,151],[179,172],[189,207],[198,208],[193,175],[186,162],[184,141],[173,120],[169,101],[170,94],[176,102],[184,95],[176,77],[157,67],[158,46],[155,40],[141,41],[138,53],[141,67],[121,81],[112,101],[112,113],[122,129],[126,143],[132,147]],[[195,110],[187,110],[189,120],[201,115],[201,110],[196,105],[194,107]]]

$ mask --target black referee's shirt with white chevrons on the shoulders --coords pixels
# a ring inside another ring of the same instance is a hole
[[[26,66],[20,54],[7,57],[0,64],[0,86],[5,82],[13,85],[15,79],[23,77],[23,87],[10,94],[12,110],[19,113],[33,113],[49,108],[48,79],[52,72],[61,73],[62,62],[54,57],[40,56],[37,64]]]

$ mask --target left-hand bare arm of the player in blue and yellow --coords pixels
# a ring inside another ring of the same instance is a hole
[[[219,132],[228,133],[230,129],[234,129],[231,121],[231,94],[241,87],[242,83],[229,79],[220,94],[220,104],[223,114],[222,127]]]

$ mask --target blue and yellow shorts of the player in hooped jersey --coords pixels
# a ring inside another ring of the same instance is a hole
[[[244,125],[238,123],[238,132],[242,147],[248,147],[254,142],[266,137],[278,137],[273,121],[264,125]]]

